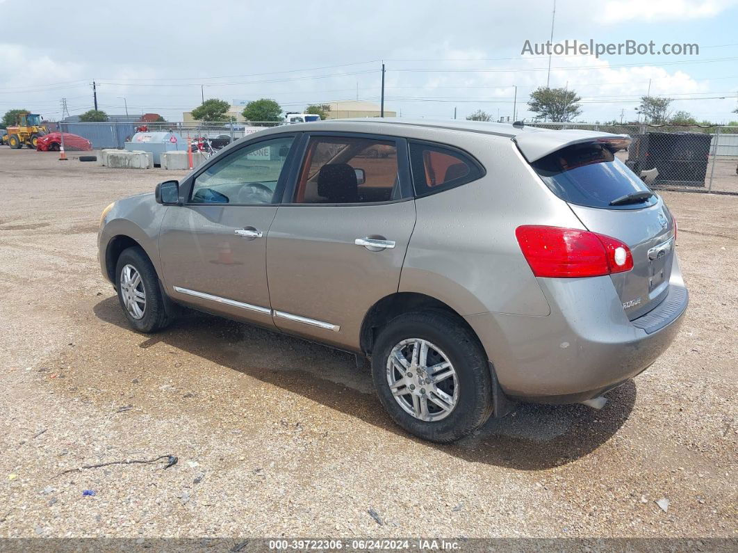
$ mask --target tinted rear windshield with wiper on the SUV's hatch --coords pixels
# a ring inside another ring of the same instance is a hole
[[[610,205],[615,199],[649,188],[615,154],[599,144],[576,144],[531,163],[548,188],[576,205],[607,209],[641,209],[658,202]]]

